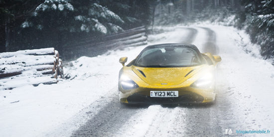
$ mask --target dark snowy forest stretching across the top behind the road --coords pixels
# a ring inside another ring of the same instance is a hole
[[[225,22],[274,57],[274,0],[0,0],[0,52],[54,47],[146,26]],[[152,30],[153,31],[153,30]]]

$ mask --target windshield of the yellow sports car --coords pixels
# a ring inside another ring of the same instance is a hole
[[[158,47],[141,52],[135,66],[168,68],[197,66],[202,63],[194,49],[188,47]]]

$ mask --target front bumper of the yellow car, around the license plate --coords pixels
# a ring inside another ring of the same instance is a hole
[[[178,97],[150,97],[150,91],[178,91]],[[139,104],[173,104],[173,103],[205,103],[215,100],[213,89],[197,89],[192,87],[181,88],[144,88],[123,90],[119,87],[120,102]]]

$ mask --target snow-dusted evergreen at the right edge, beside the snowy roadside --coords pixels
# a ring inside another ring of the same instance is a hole
[[[261,45],[266,59],[274,57],[274,0],[242,0],[247,16],[250,16],[247,32],[254,43]]]

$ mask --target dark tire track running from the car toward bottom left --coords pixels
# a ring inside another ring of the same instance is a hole
[[[85,125],[75,131],[72,137],[113,137],[131,116],[147,107],[123,105],[118,101],[118,95],[116,95]]]

